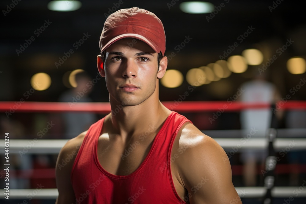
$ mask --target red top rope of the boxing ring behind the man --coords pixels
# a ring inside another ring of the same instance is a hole
[[[280,109],[306,109],[306,101],[279,101]],[[262,109],[271,107],[270,103],[246,103],[226,101],[167,101],[162,102],[168,109],[180,113],[198,113],[203,111],[240,111],[242,109]],[[224,108],[224,106],[227,106]],[[16,107],[16,108],[15,108]],[[86,111],[92,113],[110,113],[109,102],[0,102],[0,112],[67,112]]]

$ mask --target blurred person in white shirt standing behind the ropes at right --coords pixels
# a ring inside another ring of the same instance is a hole
[[[242,94],[239,100],[241,102],[252,103],[276,102],[279,99],[279,92],[273,83],[267,81],[267,70],[266,72],[259,73],[255,69],[253,76],[253,80],[241,85]],[[251,133],[252,138],[265,137],[267,129],[271,127],[272,114],[271,107],[241,110],[240,124],[243,130],[242,136]],[[243,178],[246,186],[256,186],[256,164],[261,163],[264,165],[266,157],[267,150],[246,149],[241,151]]]

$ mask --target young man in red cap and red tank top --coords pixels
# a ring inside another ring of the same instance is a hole
[[[62,148],[57,204],[241,203],[222,147],[159,101],[165,44],[149,11],[106,19],[97,65],[112,111]]]

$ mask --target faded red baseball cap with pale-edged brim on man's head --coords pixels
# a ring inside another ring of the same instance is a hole
[[[120,9],[107,17],[100,37],[101,52],[122,38],[144,41],[162,55],[166,50],[166,35],[162,21],[150,11],[133,7]]]

